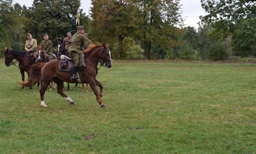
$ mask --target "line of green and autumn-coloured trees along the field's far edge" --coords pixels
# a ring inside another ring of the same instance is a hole
[[[76,32],[80,0],[34,0],[31,7],[0,0],[0,48],[24,51],[27,33],[37,41]],[[256,56],[256,2],[201,0],[208,13],[199,28],[184,26],[179,0],[92,0],[80,25],[93,43],[110,43],[113,59],[225,60]],[[2,53],[0,53],[2,54]],[[3,55],[0,55],[1,57]]]

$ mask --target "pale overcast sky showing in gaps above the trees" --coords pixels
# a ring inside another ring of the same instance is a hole
[[[25,5],[27,7],[32,6],[33,0],[13,0],[14,3],[19,3],[21,6]],[[200,0],[180,0],[182,5],[182,17],[185,18],[184,24],[186,26],[193,26],[198,28],[197,23],[200,21],[199,16],[204,16],[206,13],[201,7]],[[89,7],[91,5],[91,0],[81,0],[81,9],[88,15]]]

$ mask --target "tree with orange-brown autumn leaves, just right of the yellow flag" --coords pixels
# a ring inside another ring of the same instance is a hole
[[[133,1],[94,0],[92,6],[93,37],[97,37],[98,41],[118,40],[119,57],[125,59],[123,39],[137,28]]]

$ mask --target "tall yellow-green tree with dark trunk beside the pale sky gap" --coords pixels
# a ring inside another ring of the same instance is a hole
[[[146,59],[150,60],[152,42],[170,48],[176,44],[176,37],[182,33],[177,25],[183,25],[179,0],[141,0],[138,38],[144,43]]]

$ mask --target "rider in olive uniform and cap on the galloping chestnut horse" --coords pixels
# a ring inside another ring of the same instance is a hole
[[[74,61],[74,66],[71,68],[70,80],[77,80],[77,69],[79,66],[79,55],[84,46],[84,26],[77,26],[77,32],[71,38],[71,45],[69,47],[69,53],[71,59]]]

